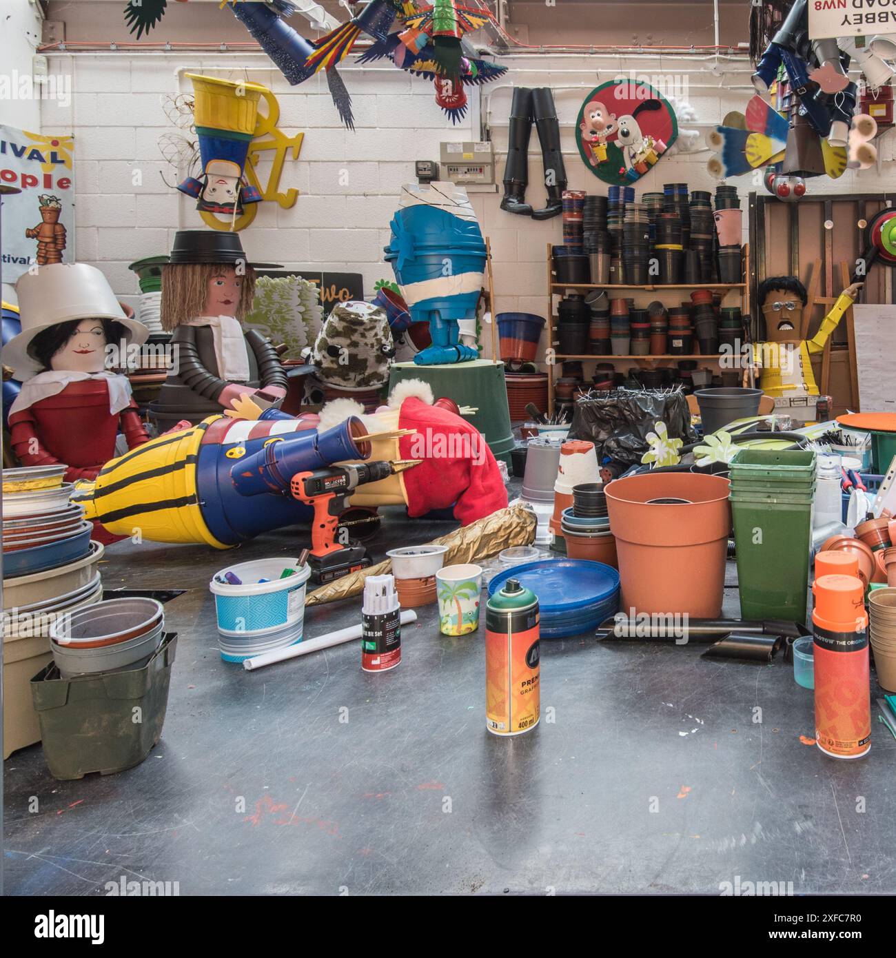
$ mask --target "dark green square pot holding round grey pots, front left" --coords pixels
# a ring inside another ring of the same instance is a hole
[[[60,678],[51,662],[31,680],[43,754],[57,779],[124,771],[162,735],[177,633],[141,669]]]

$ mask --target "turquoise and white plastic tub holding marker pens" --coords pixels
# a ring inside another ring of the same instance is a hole
[[[291,574],[281,578],[288,570]],[[240,584],[226,582],[228,573]],[[258,651],[300,642],[310,574],[310,566],[299,565],[298,559],[255,559],[221,569],[209,583],[218,632],[225,640],[221,658],[241,662]]]

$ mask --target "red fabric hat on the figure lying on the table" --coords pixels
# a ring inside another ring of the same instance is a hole
[[[399,440],[402,459],[424,460],[403,473],[409,515],[453,505],[454,517],[467,526],[507,506],[507,489],[492,450],[469,422],[409,397],[402,402],[399,426],[417,430]]]

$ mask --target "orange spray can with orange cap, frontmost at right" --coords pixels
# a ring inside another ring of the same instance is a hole
[[[819,576],[815,608],[816,744],[835,759],[860,759],[871,748],[868,614],[862,580]]]

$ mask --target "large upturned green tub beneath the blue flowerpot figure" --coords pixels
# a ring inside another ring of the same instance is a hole
[[[405,379],[423,379],[436,399],[447,396],[459,406],[474,408],[476,411],[464,418],[485,436],[494,458],[511,465],[511,452],[517,443],[510,426],[503,363],[488,359],[443,366],[395,363],[389,375],[389,392]]]

